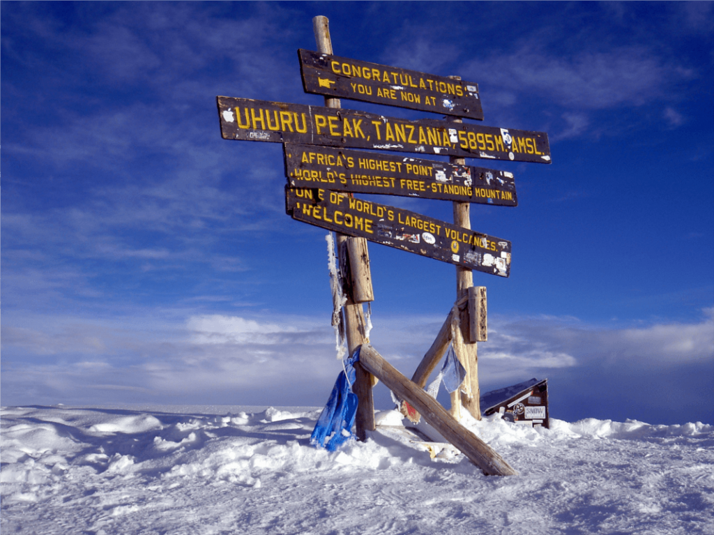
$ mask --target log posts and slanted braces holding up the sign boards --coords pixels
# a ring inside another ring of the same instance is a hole
[[[313,30],[318,52],[333,54],[328,19],[324,16],[316,16],[313,19]],[[338,99],[327,96],[325,97],[325,105],[333,108],[341,106]],[[461,119],[456,119],[456,121],[461,121]],[[466,165],[466,161],[463,158],[454,156],[449,158],[449,162],[457,166]],[[471,229],[469,207],[470,204],[468,202],[455,201],[453,203],[454,224],[464,229]],[[353,385],[353,391],[357,394],[359,402],[356,416],[358,439],[366,439],[366,431],[374,431],[376,429],[372,388],[376,384],[376,379],[379,379],[399,399],[403,399],[408,404],[411,404],[413,409],[423,414],[429,424],[462,451],[473,464],[481,468],[484,474],[499,476],[518,474],[496,451],[493,451],[478,436],[458,423],[458,419],[461,418],[462,396],[463,405],[471,412],[471,415],[478,420],[481,419],[481,409],[478,405],[476,341],[480,339],[480,336],[485,339],[486,288],[482,287],[478,290],[478,293],[474,292],[471,269],[456,266],[456,305],[448,314],[434,344],[427,351],[410,381],[384,360],[369,345],[369,341],[365,336],[361,303],[373,300],[366,240],[338,234],[337,242],[338,246],[340,244],[347,246],[348,254],[341,255],[339,258],[346,259],[349,262],[348,266],[341,265],[341,269],[343,273],[351,274],[352,283],[351,289],[348,289],[347,292],[348,301],[344,308],[349,354],[352,354],[357,349],[357,346],[360,346],[360,359],[356,364],[357,374]],[[357,265],[355,266],[353,263]],[[355,289],[359,290],[357,296],[353,294]],[[470,294],[472,296],[478,295],[478,297],[470,297]],[[472,329],[470,327],[470,307],[468,304],[471,302],[481,303],[481,306],[474,307],[473,311],[483,312],[483,319],[481,316],[476,316],[473,322],[476,325],[483,324],[484,329]],[[474,331],[473,335],[472,331]],[[455,339],[458,339],[458,341]],[[462,392],[459,389],[451,394],[451,414],[444,410],[436,399],[432,399],[423,390],[429,374],[441,360],[450,341],[455,344],[455,352],[458,359],[466,368],[464,391]]]

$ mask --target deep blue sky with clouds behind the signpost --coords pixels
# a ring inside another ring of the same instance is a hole
[[[488,288],[481,388],[551,414],[714,422],[711,2],[0,3],[2,404],[321,405],[341,369],[326,231],[285,214],[278,144],[221,139],[216,96],[322,104],[296,49],[460,75],[483,124],[546,131]],[[417,119],[438,116],[343,101]],[[381,197],[451,221],[451,203]],[[455,269],[370,246],[371,340],[411,376]],[[378,406],[388,394],[378,386]]]

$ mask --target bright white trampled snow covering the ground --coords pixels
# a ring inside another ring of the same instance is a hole
[[[463,421],[519,476],[372,434],[308,445],[320,409],[1,409],[5,534],[714,534],[714,426]]]

